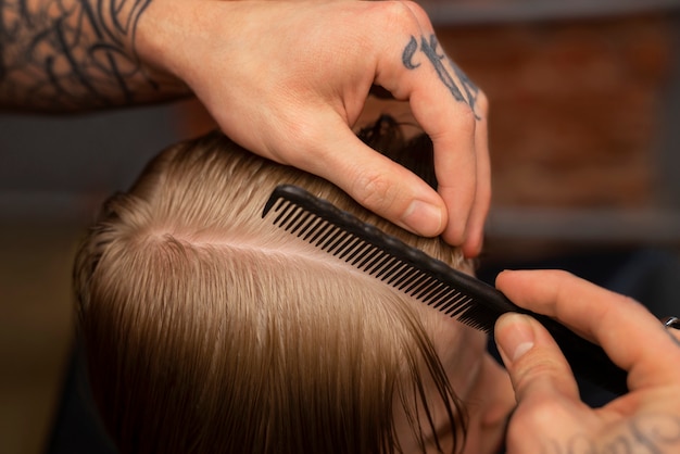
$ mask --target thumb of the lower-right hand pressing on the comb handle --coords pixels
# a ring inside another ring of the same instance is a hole
[[[569,364],[547,330],[536,319],[522,314],[504,314],[495,325],[495,342],[518,404],[556,396],[580,401]]]

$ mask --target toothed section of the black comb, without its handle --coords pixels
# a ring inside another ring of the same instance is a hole
[[[490,332],[500,313],[480,305],[474,291],[442,279],[435,268],[457,279],[469,276],[450,268],[400,240],[363,223],[330,203],[300,188],[278,187],[265,206],[263,217],[291,235],[336,256],[354,268],[474,328]],[[456,276],[459,275],[459,276]],[[473,294],[470,294],[473,293]]]

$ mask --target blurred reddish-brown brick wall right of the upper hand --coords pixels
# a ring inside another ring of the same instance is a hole
[[[653,203],[669,26],[650,15],[438,30],[490,99],[495,205]]]

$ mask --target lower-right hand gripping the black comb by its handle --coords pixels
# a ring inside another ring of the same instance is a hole
[[[506,314],[496,343],[517,408],[508,454],[680,452],[680,333],[642,305],[564,272],[504,272],[498,288],[518,305],[557,318],[601,344],[628,375],[630,392],[602,408],[581,402],[576,381],[547,331]]]

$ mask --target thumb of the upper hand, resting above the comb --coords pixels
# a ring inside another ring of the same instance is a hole
[[[333,182],[366,209],[424,237],[443,231],[448,214],[437,191],[367,147],[347,125],[335,129],[318,154],[310,172]]]

